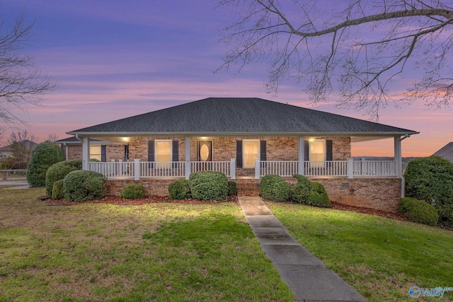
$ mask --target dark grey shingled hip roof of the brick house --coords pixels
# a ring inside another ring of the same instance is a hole
[[[418,132],[261,98],[205,98],[67,133],[90,137],[147,134],[388,137]]]

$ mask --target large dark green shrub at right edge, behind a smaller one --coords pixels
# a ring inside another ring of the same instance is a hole
[[[408,163],[404,178],[407,197],[432,204],[439,222],[453,226],[453,163],[440,156],[416,158]]]

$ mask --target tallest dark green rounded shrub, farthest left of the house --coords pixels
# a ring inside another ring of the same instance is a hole
[[[64,161],[64,156],[62,149],[57,144],[47,141],[36,146],[28,162],[28,184],[31,187],[44,187],[47,169],[60,161]]]

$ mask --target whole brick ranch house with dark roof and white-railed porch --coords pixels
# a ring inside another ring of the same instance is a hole
[[[294,182],[301,174],[322,182],[335,202],[396,211],[401,141],[418,132],[260,98],[206,98],[67,134],[81,141],[84,170],[108,178],[108,194],[136,182],[166,195],[170,182],[197,170],[224,173],[238,194],[259,194],[264,175]],[[394,139],[394,161],[351,158],[352,143],[385,138]],[[91,163],[93,139],[122,152]]]

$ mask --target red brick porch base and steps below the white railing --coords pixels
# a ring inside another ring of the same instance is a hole
[[[296,183],[295,178],[285,178],[289,183]],[[396,212],[401,199],[400,178],[309,178],[310,181],[321,182],[333,202],[348,204],[355,207],[366,207],[381,211]],[[109,179],[107,194],[120,196],[123,187],[131,183],[143,185],[149,196],[167,196],[168,185],[174,178],[155,179]],[[236,179],[238,195],[258,196],[259,179]]]

